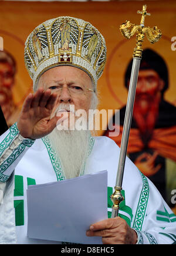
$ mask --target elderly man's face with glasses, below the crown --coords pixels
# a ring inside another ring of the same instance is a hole
[[[39,79],[38,88],[51,89],[57,94],[52,114],[60,104],[75,105],[75,111],[84,109],[88,114],[93,85],[89,75],[82,69],[60,66],[48,69]]]

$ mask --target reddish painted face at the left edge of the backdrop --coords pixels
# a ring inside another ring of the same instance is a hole
[[[8,62],[0,62],[0,103],[8,102],[11,95],[11,87],[14,82],[14,74],[12,66]]]

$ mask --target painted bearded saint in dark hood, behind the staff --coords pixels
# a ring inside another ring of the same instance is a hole
[[[132,61],[125,75],[127,89],[131,67]],[[176,167],[176,108],[164,99],[167,88],[168,70],[163,58],[151,49],[145,49],[138,75],[127,153],[138,169],[155,184],[170,207],[174,207],[168,197],[176,186],[176,171],[170,177],[173,181],[169,188],[166,174],[168,163],[172,162]],[[111,137],[119,146],[125,112],[126,106],[120,109],[120,135]],[[113,117],[113,124],[114,120]],[[104,135],[109,137],[109,131]]]

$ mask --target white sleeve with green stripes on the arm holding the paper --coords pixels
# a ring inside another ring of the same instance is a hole
[[[146,177],[145,177],[146,178]],[[140,228],[140,211],[136,225],[138,244],[174,244],[176,243],[176,216],[161,197],[154,184],[147,179],[149,197],[143,225]],[[141,204],[141,212],[143,205]]]

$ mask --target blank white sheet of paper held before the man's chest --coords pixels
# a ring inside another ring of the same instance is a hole
[[[107,218],[107,171],[31,185],[27,190],[28,237],[102,244],[87,237],[91,224]]]

